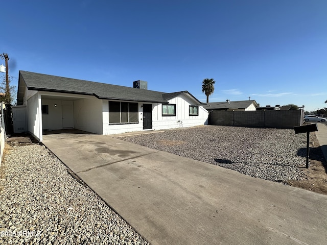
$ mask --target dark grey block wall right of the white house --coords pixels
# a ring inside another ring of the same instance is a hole
[[[210,111],[210,125],[293,129],[303,124],[303,110]]]

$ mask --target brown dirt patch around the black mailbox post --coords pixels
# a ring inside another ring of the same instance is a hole
[[[306,177],[299,181],[288,181],[288,184],[327,195],[327,162],[314,133],[310,134],[309,168],[302,168],[302,170]]]

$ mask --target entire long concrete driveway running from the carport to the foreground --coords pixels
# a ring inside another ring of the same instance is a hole
[[[327,195],[112,136],[43,143],[151,244],[326,244]]]

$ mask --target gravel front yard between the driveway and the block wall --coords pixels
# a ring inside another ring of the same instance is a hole
[[[301,180],[306,134],[291,129],[200,126],[121,137],[136,144],[219,165],[256,178]]]

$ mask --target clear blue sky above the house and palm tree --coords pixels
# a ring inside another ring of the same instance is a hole
[[[205,102],[327,107],[327,1],[5,1],[0,53],[18,71],[188,90]],[[0,61],[1,62],[1,61]],[[3,61],[3,63],[5,63]],[[1,74],[0,76],[4,76]]]

